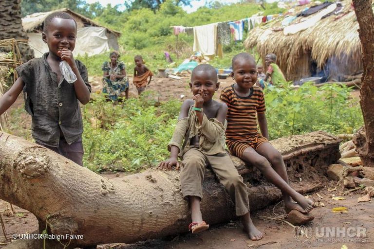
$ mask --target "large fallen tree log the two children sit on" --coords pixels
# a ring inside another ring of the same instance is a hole
[[[319,186],[318,174],[339,157],[340,139],[312,132],[272,141],[282,153],[291,185],[301,193]],[[278,201],[280,191],[263,184],[258,170],[233,158],[243,174],[252,210]],[[0,198],[34,213],[39,231],[83,235],[61,240],[77,245],[132,243],[187,231],[187,201],[177,171],[155,168],[108,180],[37,144],[0,132]],[[300,179],[302,180],[300,182]],[[260,182],[261,184],[255,184]],[[210,224],[234,218],[234,207],[210,170],[206,171],[202,212]],[[40,249],[43,241],[19,240],[6,249]],[[56,240],[48,249],[63,248]]]

